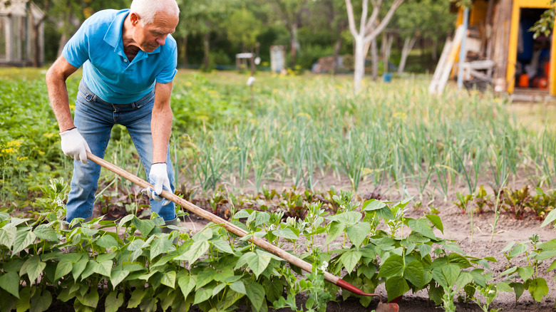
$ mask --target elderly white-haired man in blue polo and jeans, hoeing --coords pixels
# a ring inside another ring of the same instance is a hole
[[[88,162],[86,152],[103,157],[113,125],[120,124],[128,129],[155,186],[143,190],[151,209],[166,225],[177,223],[175,205],[159,195],[163,188],[174,191],[168,140],[177,51],[170,33],[179,13],[175,0],[133,0],[130,9],[99,11],[83,23],[48,69],[48,97],[62,151],[75,159],[68,222],[92,219],[101,167]],[[66,79],[81,66],[83,78],[72,120]]]

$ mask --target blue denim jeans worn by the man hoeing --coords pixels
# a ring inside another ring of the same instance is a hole
[[[154,103],[154,91],[130,104],[107,103],[93,94],[82,80],[79,84],[73,122],[79,133],[87,141],[91,152],[101,158],[104,157],[113,125],[125,126],[139,153],[148,177],[150,166],[153,164],[153,135],[150,132],[150,118]],[[174,175],[169,151],[166,163],[168,164],[170,186],[172,192],[174,192]],[[66,219],[68,222],[71,222],[73,218],[84,219],[93,215],[95,192],[98,188],[100,175],[101,166],[94,162],[89,161],[87,165],[83,165],[81,161],[73,162],[73,177],[68,195],[68,204],[66,205]],[[150,208],[160,217],[163,217],[165,221],[176,217],[173,202],[163,206],[162,202],[150,199]]]

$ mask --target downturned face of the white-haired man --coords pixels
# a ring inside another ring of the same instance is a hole
[[[135,24],[135,43],[145,52],[153,52],[163,46],[169,33],[173,33],[177,26],[177,16],[157,14],[153,24]]]

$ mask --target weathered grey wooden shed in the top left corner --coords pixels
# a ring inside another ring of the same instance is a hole
[[[0,65],[43,64],[44,18],[29,0],[0,0]]]

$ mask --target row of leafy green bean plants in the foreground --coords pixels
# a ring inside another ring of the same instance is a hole
[[[439,238],[435,231],[443,232],[440,217],[408,218],[408,200],[361,203],[352,201],[351,192],[334,197],[337,214],[329,214],[318,202],[308,204],[304,218],[285,221],[283,212],[240,210],[232,222],[249,232],[243,238],[217,224],[194,235],[181,227],[163,234],[162,219],[134,215],[119,222],[96,218],[68,230],[60,221],[66,187],[53,180],[49,189],[44,202],[51,205],[38,219],[0,213],[1,311],[45,311],[54,298],[73,304],[76,311],[94,311],[101,302],[106,311],[122,306],[187,311],[191,305],[202,311],[239,306],[324,311],[339,292],[324,283],[324,270],[345,270],[344,280],[369,293],[385,284],[388,300],[426,289],[447,310],[460,296],[487,311],[498,291],[513,291],[517,300],[528,290],[541,301],[548,288],[539,265],[556,256],[556,239],[510,244],[503,250],[508,270],[495,283],[489,262],[496,259],[468,256],[455,241]],[[309,261],[312,273],[299,279],[298,268],[254,246],[251,236],[264,237]],[[529,265],[510,264],[523,254]],[[552,261],[547,271],[555,268]],[[304,307],[296,301],[301,292],[308,297]],[[488,300],[481,302],[475,293]],[[341,291],[341,298],[349,296],[355,295]],[[360,297],[359,302],[369,306],[371,298]]]

